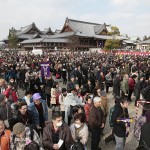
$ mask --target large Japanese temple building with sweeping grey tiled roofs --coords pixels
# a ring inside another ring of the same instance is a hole
[[[25,50],[89,50],[103,48],[107,39],[114,39],[114,36],[108,35],[110,30],[111,25],[105,23],[98,24],[66,18],[61,30],[53,32],[51,28],[47,28],[41,31],[35,23],[32,23],[16,30],[16,35],[20,47]],[[7,43],[7,39],[5,42]]]

